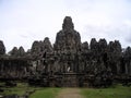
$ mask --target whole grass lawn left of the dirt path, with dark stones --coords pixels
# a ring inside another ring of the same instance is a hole
[[[3,83],[0,83],[0,85],[4,85]],[[0,93],[2,96],[8,96],[8,95],[19,95],[22,96],[26,91],[29,90],[36,90],[34,94],[29,96],[29,98],[53,98],[57,96],[58,91],[62,88],[51,88],[51,87],[32,87],[28,86],[27,83],[17,83],[16,87],[1,87],[4,89],[3,93]]]

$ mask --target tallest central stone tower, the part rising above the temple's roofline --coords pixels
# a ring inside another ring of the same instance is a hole
[[[80,34],[74,30],[74,25],[70,16],[66,16],[62,24],[62,30],[57,34],[55,50],[76,52],[81,48]]]

